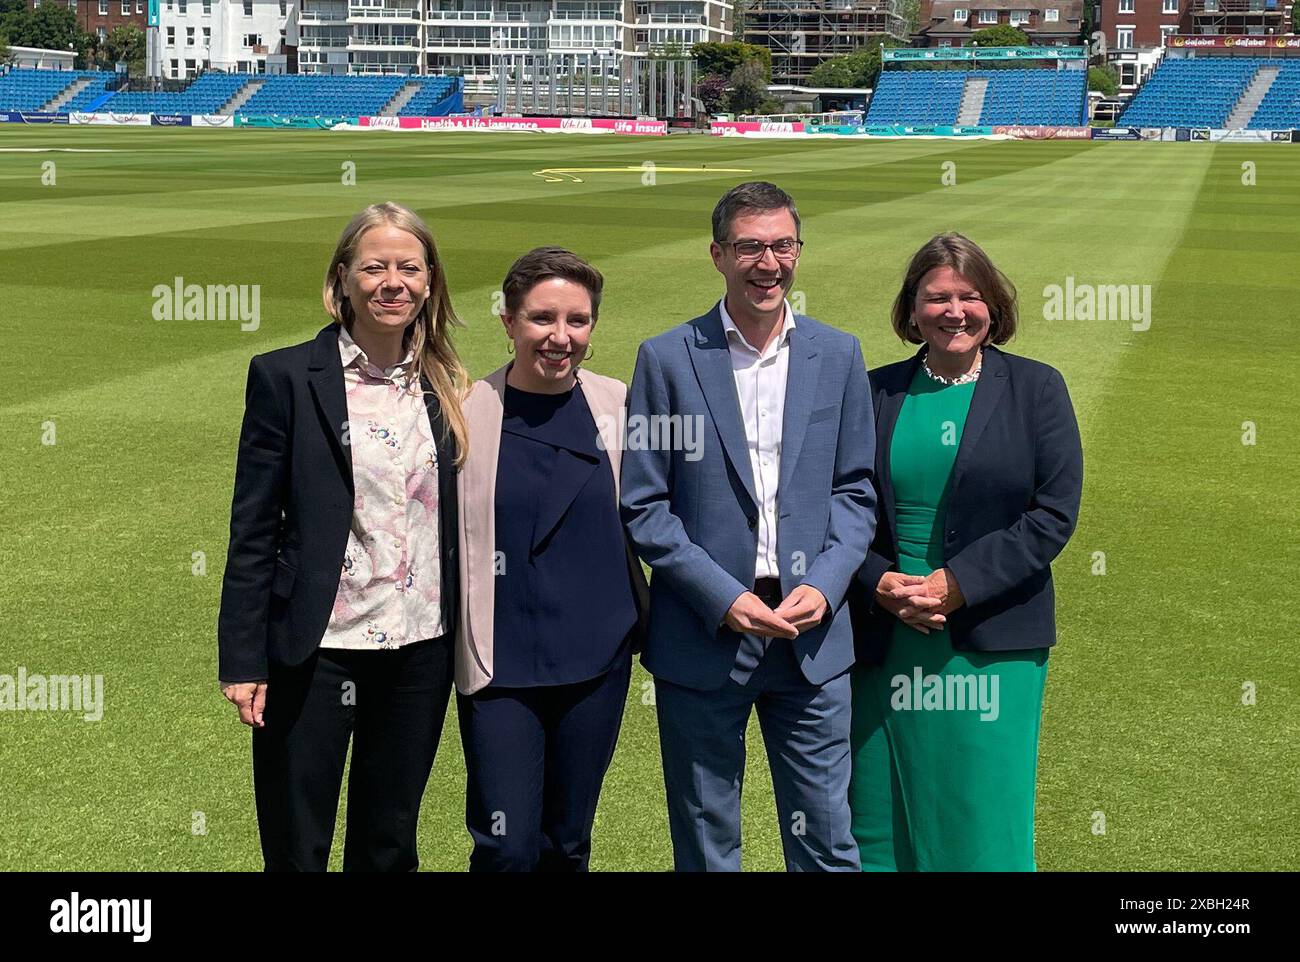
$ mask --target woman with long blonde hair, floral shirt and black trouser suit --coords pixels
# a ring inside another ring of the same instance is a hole
[[[326,272],[334,322],[252,359],[218,621],[268,870],[413,870],[451,692],[468,386],[429,229],[377,204]]]

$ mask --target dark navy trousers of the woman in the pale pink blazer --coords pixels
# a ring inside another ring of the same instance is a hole
[[[586,871],[632,658],[573,685],[456,696],[469,871]]]

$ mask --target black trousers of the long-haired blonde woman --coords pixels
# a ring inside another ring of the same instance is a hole
[[[451,697],[452,636],[399,649],[317,649],[270,667],[265,728],[252,732],[266,871],[325,871],[347,745],[343,871],[415,871],[420,798]]]

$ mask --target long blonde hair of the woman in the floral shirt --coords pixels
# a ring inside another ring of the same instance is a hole
[[[438,246],[433,240],[433,233],[417,213],[390,202],[370,204],[348,221],[338,239],[338,246],[334,248],[329,269],[325,272],[325,289],[321,292],[325,312],[342,324],[348,333],[352,332],[356,313],[352,304],[348,303],[338,268],[350,270],[361,235],[370,228],[384,225],[391,225],[415,235],[424,246],[425,263],[429,268],[429,296],[424,299],[415,320],[407,325],[403,338],[415,355],[417,377],[412,378],[411,384],[421,395],[424,394],[424,378],[428,378],[429,384],[433,385],[433,393],[442,407],[442,416],[456,441],[456,467],[459,468],[465,463],[465,455],[469,452],[469,430],[460,406],[469,393],[469,372],[462,364],[456,347],[451,342],[451,328],[462,328],[464,322],[456,317],[451,307],[447,276],[438,259]]]

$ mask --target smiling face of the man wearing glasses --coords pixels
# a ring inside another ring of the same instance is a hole
[[[785,295],[794,283],[798,248],[789,257],[777,257],[770,248],[764,248],[758,257],[746,257],[737,256],[733,244],[745,240],[766,244],[798,240],[794,217],[786,208],[753,211],[732,220],[728,233],[727,243],[715,240],[708,246],[714,266],[727,278],[727,309],[732,315],[746,313],[754,318],[784,311]]]

